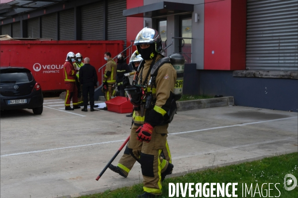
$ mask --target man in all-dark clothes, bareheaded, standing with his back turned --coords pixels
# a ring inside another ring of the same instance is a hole
[[[84,66],[80,68],[79,80],[83,88],[84,97],[84,109],[82,111],[87,112],[88,93],[90,98],[90,111],[94,111],[94,88],[97,86],[98,76],[94,66],[90,65],[90,59],[86,57],[84,59]]]

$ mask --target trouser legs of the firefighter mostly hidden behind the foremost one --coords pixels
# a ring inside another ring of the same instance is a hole
[[[136,135],[137,135],[137,133],[135,134],[135,136]],[[163,149],[161,156],[162,156],[162,158],[166,159],[168,162],[172,163],[171,152],[170,152],[168,142],[166,142],[166,149]],[[130,155],[129,148],[126,145],[124,154],[120,158],[117,166],[122,169],[123,173],[126,176],[128,176],[129,171],[132,169],[132,167],[136,161],[137,160],[132,155]],[[138,160],[138,162],[140,162],[140,161]]]

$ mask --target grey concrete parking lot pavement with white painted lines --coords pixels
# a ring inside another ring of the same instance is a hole
[[[67,112],[53,106],[59,102],[46,98],[40,116],[32,110],[1,112],[0,197],[78,197],[142,180],[139,164],[127,178],[108,169],[95,180],[129,135],[126,114]],[[168,136],[173,173],[297,152],[297,116],[239,106],[178,112]]]

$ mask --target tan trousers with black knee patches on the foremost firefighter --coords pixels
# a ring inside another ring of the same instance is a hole
[[[167,169],[169,162],[163,159],[161,153],[163,150],[166,150],[168,126],[155,127],[151,141],[147,143],[137,140],[135,131],[139,127],[132,125],[128,148],[130,154],[140,161],[144,192],[155,195],[162,193],[161,173]]]

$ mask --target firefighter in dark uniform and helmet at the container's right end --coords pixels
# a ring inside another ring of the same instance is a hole
[[[130,69],[128,67],[128,65],[124,62],[123,56],[122,55],[118,55],[117,57],[118,59],[118,65],[117,65],[117,89],[119,91],[119,96],[125,96],[125,91],[124,91],[124,87],[123,87],[123,77],[124,77],[124,73],[129,73]]]

